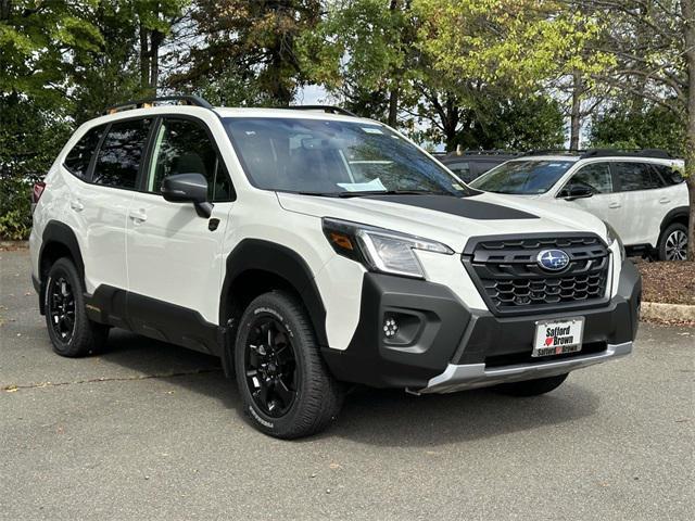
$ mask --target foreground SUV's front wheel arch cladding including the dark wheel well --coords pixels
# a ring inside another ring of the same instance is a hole
[[[250,300],[273,289],[293,292],[301,298],[318,344],[327,346],[326,308],[306,260],[287,246],[260,239],[244,239],[227,257],[219,325],[239,318],[243,313],[241,307]]]

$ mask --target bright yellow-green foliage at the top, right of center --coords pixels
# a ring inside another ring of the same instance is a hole
[[[579,69],[597,73],[611,58],[584,49],[602,23],[553,0],[414,0],[419,47],[443,77],[505,82],[518,90]]]

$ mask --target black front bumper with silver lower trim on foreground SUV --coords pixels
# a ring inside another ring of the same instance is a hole
[[[627,355],[639,325],[642,284],[634,265],[622,265],[617,295],[607,304],[501,317],[471,310],[445,285],[366,274],[357,330],[345,351],[323,350],[333,374],[377,387],[417,393],[532,380]],[[582,351],[531,358],[536,320],[584,317]],[[388,338],[384,321],[399,333]]]

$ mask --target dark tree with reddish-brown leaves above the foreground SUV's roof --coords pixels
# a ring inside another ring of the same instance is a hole
[[[191,15],[200,36],[167,84],[223,103],[289,105],[306,79],[296,39],[319,13],[318,0],[199,0]]]

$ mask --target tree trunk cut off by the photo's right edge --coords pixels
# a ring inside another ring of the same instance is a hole
[[[685,23],[685,62],[687,64],[687,127],[685,143],[685,175],[690,194],[690,225],[687,259],[695,260],[695,0],[681,0]]]

